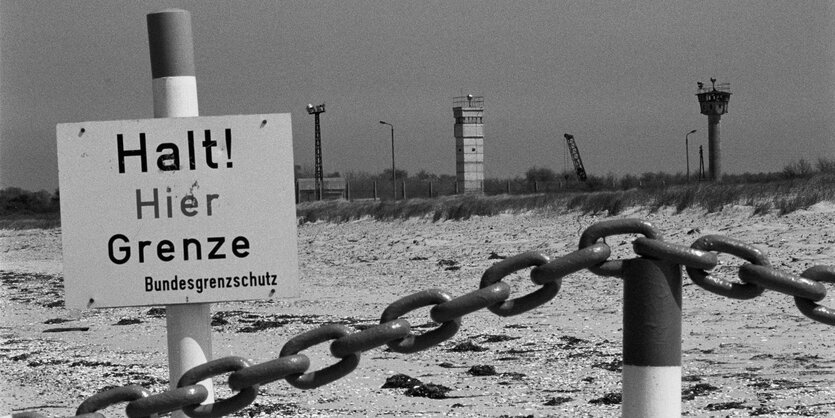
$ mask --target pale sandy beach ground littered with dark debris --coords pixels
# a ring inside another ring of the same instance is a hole
[[[759,247],[772,266],[793,274],[835,264],[835,206],[783,217],[751,213],[731,207],[713,214],[632,210],[619,217],[646,219],[665,240],[687,246],[706,234],[727,235]],[[390,303],[413,292],[441,288],[461,296],[478,288],[497,261],[491,254],[535,250],[558,257],[576,249],[582,231],[602,219],[610,218],[520,214],[301,225],[301,296],[214,304],[214,357],[260,363],[322,324],[374,325]],[[60,230],[0,231],[0,416],[32,409],[72,415],[104,388],[167,388],[165,318],[151,307],[64,308],[60,238]],[[607,240],[613,258],[634,257],[632,238]],[[735,280],[742,261],[719,260],[714,271]],[[521,271],[505,279],[511,297],[535,288],[527,277]],[[355,371],[322,388],[263,385],[255,404],[236,416],[619,416],[622,303],[620,279],[576,273],[535,311],[467,315],[454,337],[416,354],[370,350]],[[832,297],[821,303],[835,306]],[[428,311],[406,316],[414,332],[433,326]],[[803,316],[792,297],[766,291],[731,300],[685,275],[682,316],[683,415],[835,415],[835,328]],[[46,332],[55,328],[87,330]],[[310,370],[336,360],[327,350],[320,344],[304,351]],[[451,390],[432,399],[383,388],[396,374]],[[215,388],[218,398],[232,394],[226,376],[215,379]],[[123,408],[103,412],[124,416]]]

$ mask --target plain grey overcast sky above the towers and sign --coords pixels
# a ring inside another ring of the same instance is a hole
[[[455,173],[452,98],[484,96],[487,177],[691,171],[696,82],[730,82],[726,173],[833,155],[833,6],[783,1],[0,0],[0,187],[58,187],[55,125],[153,117],[145,16],[191,12],[200,114],[292,113],[295,163]],[[707,156],[705,156],[707,158]],[[707,161],[705,162],[707,163]],[[570,164],[570,163],[569,163]],[[570,168],[570,167],[569,167]]]

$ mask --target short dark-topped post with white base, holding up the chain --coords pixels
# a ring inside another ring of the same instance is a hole
[[[681,416],[681,267],[623,260],[624,418]]]

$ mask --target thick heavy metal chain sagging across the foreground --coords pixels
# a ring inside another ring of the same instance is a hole
[[[525,252],[501,260],[484,272],[478,289],[463,296],[453,298],[440,289],[413,293],[391,303],[383,311],[379,325],[355,333],[344,325],[323,325],[291,338],[277,359],[254,365],[240,357],[212,360],[186,371],[176,389],[156,395],[139,386],[105,390],[85,400],[75,416],[103,417],[96,411],[127,402],[125,413],[130,418],[156,417],[180,409],[190,417],[220,417],[251,404],[260,385],[284,379],[299,389],[314,389],[351,373],[359,365],[362,352],[385,345],[394,352],[415,353],[450,339],[460,329],[464,316],[481,309],[486,308],[499,316],[513,316],[534,309],[553,299],[563,277],[572,273],[587,269],[601,276],[620,276],[622,260],[609,260],[611,249],[601,240],[621,234],[643,235],[632,243],[637,255],[683,266],[693,282],[710,292],[733,299],[753,299],[766,289],[773,290],[794,297],[798,310],[807,317],[835,325],[835,310],[817,303],[826,297],[822,283],[835,283],[835,266],[814,266],[796,276],[772,268],[761,250],[733,238],[706,235],[685,247],[663,241],[661,234],[647,221],[617,219],[590,226],[580,237],[579,249],[558,258]],[[718,265],[716,253],[747,261],[738,269],[740,281],[729,281],[710,273]],[[511,287],[502,279],[527,268],[531,268],[531,281],[541,287],[527,295],[508,299]],[[430,305],[429,316],[440,325],[414,335],[409,322],[400,317]],[[321,370],[308,371],[310,359],[301,352],[327,341],[332,341],[330,352],[338,361]],[[208,391],[197,382],[225,373],[230,373],[228,384],[237,394],[200,405],[208,398]],[[12,418],[45,416],[29,411],[13,414]]]

